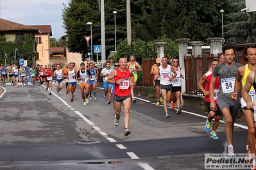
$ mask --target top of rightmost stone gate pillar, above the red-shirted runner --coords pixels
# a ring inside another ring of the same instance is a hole
[[[206,40],[210,43],[210,54],[218,57],[218,53],[222,52],[222,38],[214,37]]]

